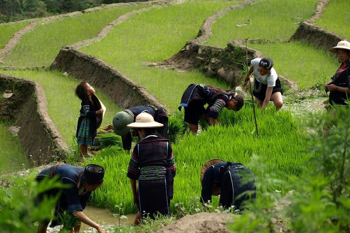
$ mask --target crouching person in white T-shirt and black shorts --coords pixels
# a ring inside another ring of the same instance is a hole
[[[245,75],[245,84],[249,81],[250,75],[254,72],[254,91],[255,101],[258,107],[265,108],[271,101],[279,110],[283,105],[282,88],[280,79],[273,68],[271,58],[264,57],[262,59],[255,58],[250,62],[251,66],[248,73]]]

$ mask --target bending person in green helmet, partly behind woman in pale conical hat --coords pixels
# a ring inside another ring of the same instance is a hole
[[[132,134],[135,135],[137,131],[133,133],[130,128],[127,127],[128,124],[135,122],[135,118],[142,112],[147,112],[153,116],[153,118],[162,123],[163,126],[157,128],[157,133],[162,137],[166,138],[168,134],[168,116],[164,109],[161,107],[155,107],[153,105],[140,105],[132,108],[125,109],[121,112],[116,113],[113,117],[113,130],[117,135],[122,136],[123,149],[129,151],[131,149]]]

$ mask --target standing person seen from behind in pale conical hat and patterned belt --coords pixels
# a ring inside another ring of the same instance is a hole
[[[133,150],[127,171],[134,204],[139,208],[134,224],[140,224],[141,218],[146,216],[170,215],[176,169],[169,140],[157,135],[157,128],[162,126],[146,112],[136,116],[135,122],[128,125],[137,130],[141,138]]]

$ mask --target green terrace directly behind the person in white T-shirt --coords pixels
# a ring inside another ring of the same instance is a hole
[[[330,53],[300,42],[250,44],[264,56],[271,57],[277,73],[307,89],[328,82],[339,63]]]

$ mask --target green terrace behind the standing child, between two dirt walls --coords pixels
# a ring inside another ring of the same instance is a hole
[[[0,70],[5,73],[19,78],[26,78],[40,83],[48,100],[48,113],[53,123],[61,132],[63,138],[68,143],[76,143],[74,139],[81,100],[75,96],[75,87],[81,82],[76,78],[65,77],[61,72],[46,72],[43,70]],[[95,88],[96,95],[105,104],[106,112],[102,122],[102,127],[112,123],[113,116],[121,111],[111,100]]]

